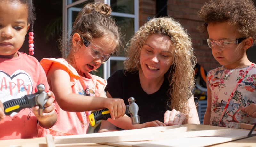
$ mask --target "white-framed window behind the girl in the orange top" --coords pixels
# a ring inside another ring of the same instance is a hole
[[[112,9],[111,15],[117,21],[117,25],[125,33],[127,43],[134,33],[139,29],[139,0],[95,0],[95,2],[109,4]],[[75,21],[78,12],[85,3],[94,2],[89,0],[63,0],[63,39],[67,39],[71,34],[72,23]],[[124,45],[126,47],[126,45]],[[63,55],[67,53],[63,52]],[[124,68],[124,51],[117,56],[111,56],[108,61],[102,64],[97,70],[92,72],[104,79],[108,79],[116,70]]]

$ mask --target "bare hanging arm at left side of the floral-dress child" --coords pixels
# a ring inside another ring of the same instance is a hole
[[[207,78],[208,79],[208,76]],[[208,81],[206,81],[207,84],[207,108],[204,114],[204,125],[209,125],[210,118],[211,118],[211,105],[212,105],[212,91],[209,88]]]

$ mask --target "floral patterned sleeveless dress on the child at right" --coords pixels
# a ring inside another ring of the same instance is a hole
[[[249,67],[240,69],[226,69],[224,66],[209,71],[208,83],[211,89],[211,119],[209,125],[218,126],[220,117],[227,104],[231,92],[243,73]],[[248,74],[238,85],[230,99],[220,127],[240,129],[240,123],[254,124],[256,119],[242,112],[241,108],[256,102],[256,65],[252,66]]]

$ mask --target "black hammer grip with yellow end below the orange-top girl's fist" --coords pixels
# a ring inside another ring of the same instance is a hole
[[[99,120],[107,120],[108,118],[111,118],[111,116],[107,108],[96,111],[89,115],[90,125],[93,127],[95,125],[95,122]]]

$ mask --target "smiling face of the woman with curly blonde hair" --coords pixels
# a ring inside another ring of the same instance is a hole
[[[172,41],[168,36],[153,34],[142,46],[140,65],[147,79],[161,79],[173,63]]]

